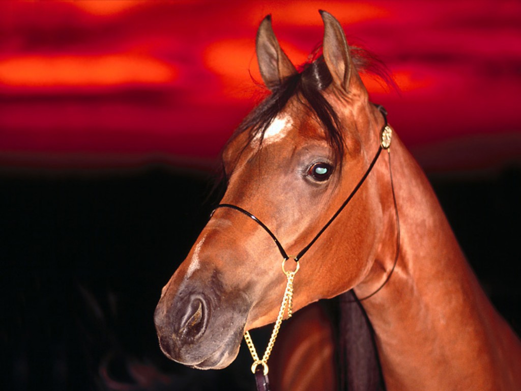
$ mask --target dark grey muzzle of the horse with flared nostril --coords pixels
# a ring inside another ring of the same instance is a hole
[[[183,287],[184,286],[184,287]],[[219,278],[197,278],[177,292],[165,290],[154,312],[165,355],[198,369],[220,369],[237,357],[250,305]]]

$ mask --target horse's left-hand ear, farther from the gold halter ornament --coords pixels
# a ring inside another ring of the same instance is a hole
[[[262,79],[270,90],[278,87],[282,80],[296,74],[295,67],[280,48],[271,28],[271,15],[266,16],[259,26],[256,51]]]

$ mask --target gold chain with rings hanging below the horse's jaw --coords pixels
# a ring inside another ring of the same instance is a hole
[[[294,256],[290,256],[289,258],[295,259]],[[280,310],[279,314],[277,315],[277,321],[275,322],[275,326],[273,326],[273,331],[271,332],[271,337],[269,338],[268,347],[266,348],[266,351],[264,352],[264,356],[262,360],[259,360],[259,357],[257,355],[257,350],[255,350],[255,346],[253,345],[252,337],[250,336],[250,332],[246,331],[244,333],[244,339],[246,341],[246,345],[248,346],[248,349],[250,349],[250,353],[253,358],[253,364],[252,364],[252,372],[255,373],[255,369],[258,365],[263,366],[263,372],[265,375],[268,374],[268,359],[269,355],[271,354],[271,350],[273,349],[273,346],[275,345],[275,339],[277,339],[277,335],[279,334],[280,325],[282,324],[282,319],[284,317],[284,312],[286,312],[286,307],[288,307],[288,318],[291,317],[293,313],[293,279],[295,278],[296,272],[299,271],[300,264],[298,261],[296,262],[296,268],[293,272],[288,272],[284,268],[284,263],[286,263],[287,260],[282,261],[282,271],[284,274],[286,274],[286,277],[288,278],[288,282],[286,284],[286,290],[284,291],[284,296],[282,297],[282,303],[280,304]]]

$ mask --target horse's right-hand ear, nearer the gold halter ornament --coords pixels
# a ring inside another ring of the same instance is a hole
[[[349,53],[344,30],[331,14],[322,10],[319,12],[324,21],[324,60],[333,81],[345,92],[349,92],[355,87],[355,83],[361,85],[362,81]]]

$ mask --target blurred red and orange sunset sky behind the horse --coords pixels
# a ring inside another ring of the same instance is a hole
[[[518,1],[0,2],[0,167],[204,167],[258,101],[259,22],[294,63],[317,10],[389,67],[373,101],[428,170],[521,161]]]

